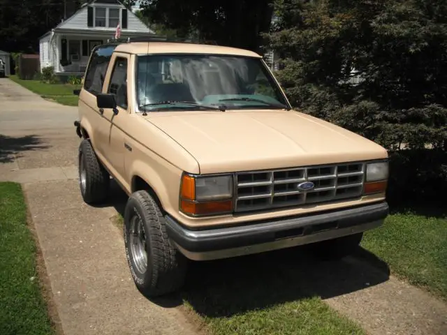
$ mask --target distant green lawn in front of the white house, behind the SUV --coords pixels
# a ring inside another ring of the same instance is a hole
[[[56,101],[62,105],[78,105],[78,96],[73,94],[73,89],[80,89],[80,85],[47,84],[40,80],[21,80],[17,75],[11,75],[9,78],[43,98]]]

